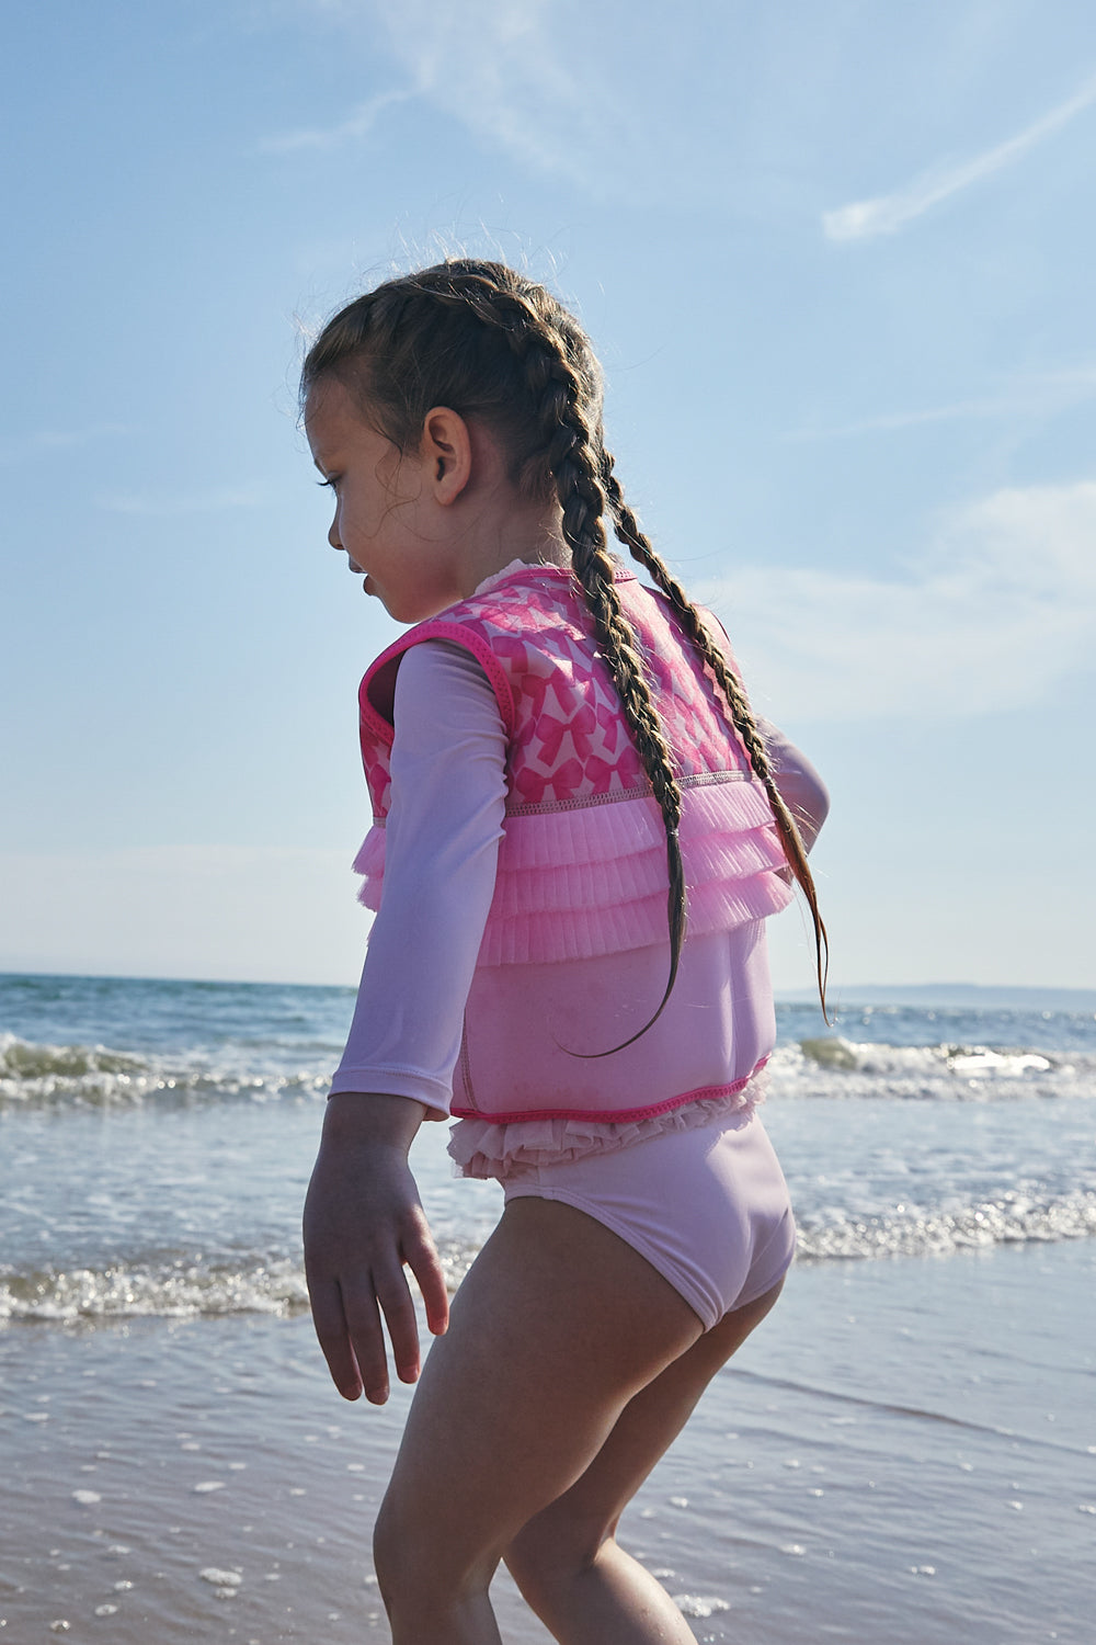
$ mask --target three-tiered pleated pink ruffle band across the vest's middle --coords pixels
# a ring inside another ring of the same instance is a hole
[[[738,773],[735,773],[738,775]],[[682,783],[688,926],[703,934],[764,920],[792,898],[787,859],[758,781]],[[355,859],[360,900],[380,908],[385,829]],[[480,966],[595,959],[665,941],[665,829],[649,796],[506,819]]]

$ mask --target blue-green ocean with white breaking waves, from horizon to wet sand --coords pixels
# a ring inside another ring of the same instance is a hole
[[[299,1211],[350,989],[0,977],[0,1321],[306,1306]],[[800,1262],[1096,1234],[1093,1013],[777,1008]],[[498,1214],[414,1150],[454,1283]]]

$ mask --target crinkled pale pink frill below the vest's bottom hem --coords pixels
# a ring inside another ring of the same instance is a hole
[[[496,1178],[513,1181],[541,1166],[564,1160],[585,1160],[593,1153],[618,1153],[649,1137],[667,1132],[697,1130],[731,1114],[753,1114],[764,1101],[764,1074],[758,1073],[738,1091],[718,1097],[687,1102],[669,1114],[646,1120],[598,1122],[580,1114],[552,1120],[518,1120],[495,1125],[491,1120],[457,1120],[449,1137],[449,1153],[455,1176]]]

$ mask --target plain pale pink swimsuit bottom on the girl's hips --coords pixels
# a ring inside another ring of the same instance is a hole
[[[529,1165],[511,1199],[560,1199],[619,1234],[680,1291],[705,1331],[787,1273],[795,1222],[756,1114],[670,1130],[628,1148]]]

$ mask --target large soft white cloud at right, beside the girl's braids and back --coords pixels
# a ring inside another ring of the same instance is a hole
[[[708,586],[758,706],[789,721],[1030,706],[1096,658],[1096,482],[1006,489],[894,579],[781,566]],[[741,640],[739,640],[741,643]]]

